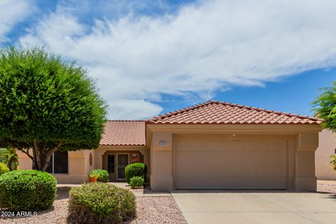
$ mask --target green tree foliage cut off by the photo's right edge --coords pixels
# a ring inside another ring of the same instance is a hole
[[[336,81],[330,87],[321,88],[321,94],[311,103],[318,118],[323,119],[322,127],[336,132]],[[331,156],[330,164],[336,170],[336,156]]]

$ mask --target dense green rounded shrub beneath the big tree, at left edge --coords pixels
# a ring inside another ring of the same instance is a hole
[[[13,211],[49,209],[56,196],[55,177],[36,170],[15,170],[0,176],[0,207]]]

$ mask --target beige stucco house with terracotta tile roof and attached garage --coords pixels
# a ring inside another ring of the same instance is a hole
[[[209,101],[149,120],[111,120],[97,149],[55,153],[58,183],[83,183],[92,169],[125,180],[131,162],[148,166],[153,190],[316,190],[321,120]],[[20,168],[31,162],[20,154]]]

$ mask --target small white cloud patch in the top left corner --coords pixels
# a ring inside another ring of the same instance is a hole
[[[18,0],[1,0],[0,1],[0,43],[9,41],[6,34],[17,22],[25,19],[25,16],[31,12],[33,7],[29,9],[27,1]]]

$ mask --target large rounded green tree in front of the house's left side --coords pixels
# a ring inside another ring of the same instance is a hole
[[[56,151],[99,146],[106,104],[87,71],[43,48],[0,50],[0,147],[45,171]]]

